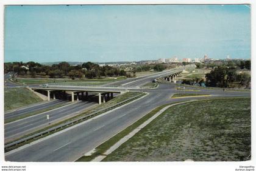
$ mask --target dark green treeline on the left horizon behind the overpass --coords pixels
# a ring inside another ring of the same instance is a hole
[[[105,76],[127,76],[124,70],[108,65],[99,66],[93,62],[85,62],[82,65],[69,65],[68,62],[59,64],[42,65],[37,62],[7,62],[4,63],[4,72],[15,72],[20,76],[43,78],[101,78]]]

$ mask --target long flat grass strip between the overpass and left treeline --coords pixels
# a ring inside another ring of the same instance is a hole
[[[124,78],[104,78],[104,79],[38,79],[38,78],[16,78],[14,81],[20,84],[46,84],[56,85],[102,85],[108,82],[119,81]]]

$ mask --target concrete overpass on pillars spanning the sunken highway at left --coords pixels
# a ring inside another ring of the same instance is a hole
[[[48,101],[51,100],[51,96],[55,99],[56,93],[62,93],[62,95],[66,95],[66,93],[71,94],[71,101],[76,100],[79,101],[79,95],[88,96],[88,92],[98,93],[99,96],[99,104],[101,102],[105,102],[105,95],[107,97],[113,98],[113,93],[125,93],[129,92],[129,90],[124,88],[113,88],[113,87],[80,87],[80,86],[59,86],[59,85],[49,85],[47,87],[43,87],[40,85],[30,86],[32,90],[43,90],[47,92]]]

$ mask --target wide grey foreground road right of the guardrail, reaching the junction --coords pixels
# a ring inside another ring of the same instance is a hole
[[[7,152],[5,159],[7,161],[74,161],[155,107],[185,100],[170,98],[171,95],[179,92],[174,87],[173,84],[160,84],[158,89],[145,90],[149,95],[137,102],[132,102],[107,115],[96,117],[89,122],[82,122],[79,126],[73,126],[62,133],[55,133],[54,136],[37,141],[24,149]],[[207,90],[204,93],[207,93]],[[208,93],[212,94],[212,91]],[[215,92],[213,95],[222,96],[222,93]],[[250,93],[229,92],[225,96],[250,96]],[[186,98],[186,100],[197,98]],[[205,97],[199,99],[205,99]]]

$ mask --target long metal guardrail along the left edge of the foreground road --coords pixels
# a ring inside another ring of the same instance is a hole
[[[137,99],[137,98],[139,98],[141,96],[144,96],[144,95],[145,95],[145,93],[141,93],[140,95],[137,95],[137,96],[134,96],[132,98],[126,99],[124,101],[118,102],[117,104],[114,104],[113,106],[107,107],[106,109],[99,110],[98,112],[93,112],[90,115],[82,116],[82,117],[74,119],[72,121],[60,124],[59,126],[55,126],[55,127],[52,127],[52,128],[50,128],[48,130],[44,130],[43,132],[35,133],[34,135],[27,136],[26,138],[20,139],[18,141],[13,142],[13,143],[6,144],[4,146],[4,149],[8,149],[8,147],[12,147],[12,146],[24,143],[24,142],[26,142],[26,141],[28,141],[30,139],[34,139],[34,138],[37,138],[38,136],[45,135],[46,133],[54,132],[54,131],[56,131],[58,129],[63,129],[64,127],[72,126],[72,125],[77,124],[77,123],[79,123],[81,121],[84,121],[85,119],[88,119],[88,118],[91,118],[92,116],[96,116],[96,115],[99,115],[101,113],[107,112],[108,110],[111,110],[111,109],[113,109],[115,107],[121,106],[122,104],[124,104],[126,102],[132,101],[133,99]]]

